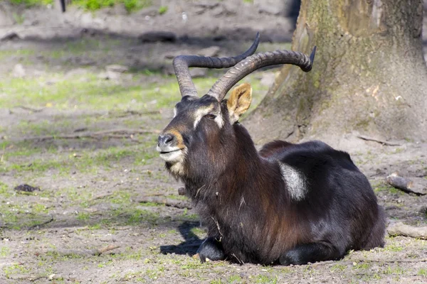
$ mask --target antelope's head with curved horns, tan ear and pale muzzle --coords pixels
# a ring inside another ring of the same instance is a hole
[[[233,58],[209,58],[179,55],[174,70],[179,83],[181,101],[174,108],[174,118],[159,135],[157,151],[167,169],[176,178],[195,172],[209,175],[221,173],[237,147],[234,125],[251,105],[252,88],[241,84],[224,99],[227,92],[243,77],[260,67],[292,64],[308,72],[312,68],[315,49],[310,55],[276,50],[253,55],[259,43],[257,34],[251,48]],[[203,97],[199,97],[191,80],[189,67],[228,68]],[[219,170],[219,172],[218,172]]]

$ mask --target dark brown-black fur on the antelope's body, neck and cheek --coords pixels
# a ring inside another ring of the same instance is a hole
[[[201,261],[303,264],[384,245],[384,212],[348,153],[320,141],[274,141],[258,153],[248,131],[228,122],[225,101],[221,111],[222,129],[205,118],[179,128],[188,154],[176,178],[208,229]],[[303,200],[291,199],[278,161],[305,175]]]

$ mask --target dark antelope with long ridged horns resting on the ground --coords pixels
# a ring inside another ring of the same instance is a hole
[[[202,262],[228,260],[301,265],[338,260],[347,251],[384,246],[384,210],[348,153],[321,141],[273,141],[257,151],[239,117],[251,104],[246,75],[268,65],[309,72],[309,56],[288,50],[232,58],[179,55],[174,70],[181,101],[159,135],[165,167],[185,185],[207,238]],[[198,97],[189,67],[231,69]]]

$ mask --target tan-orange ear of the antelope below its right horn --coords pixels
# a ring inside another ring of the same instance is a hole
[[[251,84],[243,83],[233,89],[230,98],[227,100],[227,109],[231,124],[238,121],[238,118],[249,109],[251,102]]]

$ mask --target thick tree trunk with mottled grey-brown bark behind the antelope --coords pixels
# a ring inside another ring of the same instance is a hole
[[[248,118],[255,141],[426,140],[422,20],[422,0],[302,0],[292,50],[317,45],[314,67],[278,73]]]

